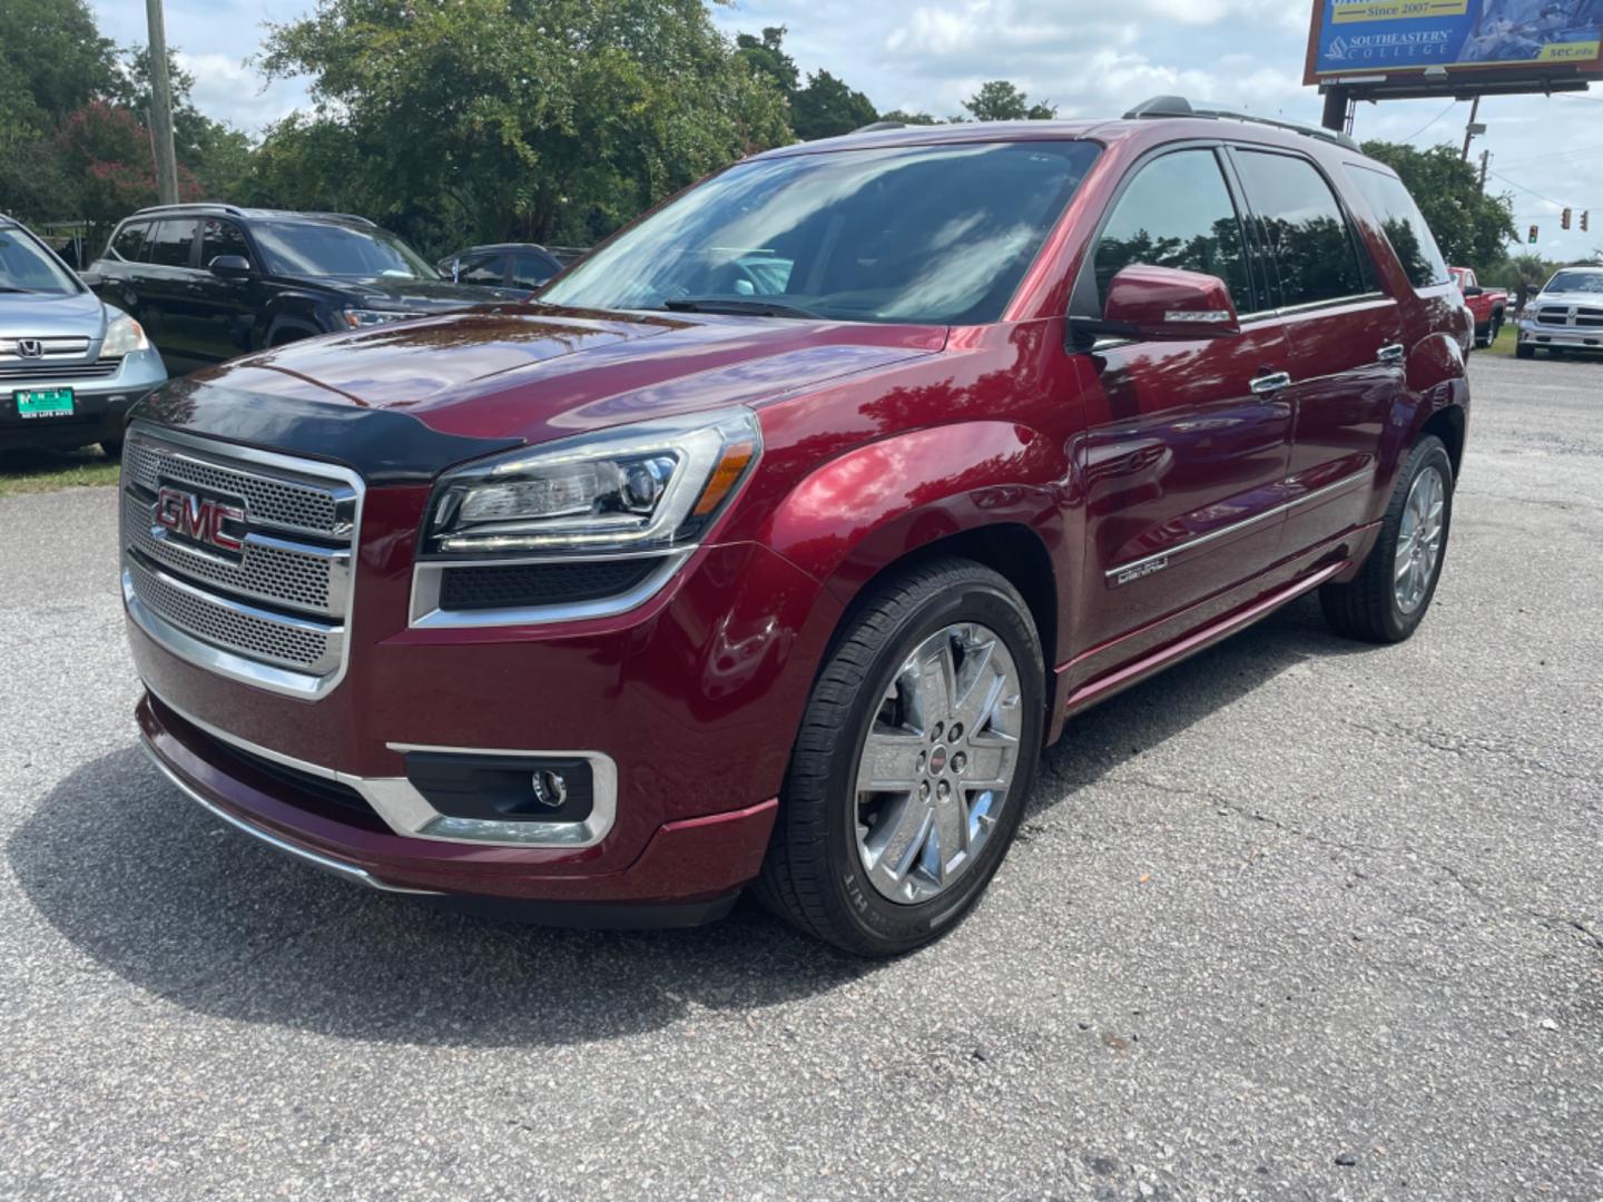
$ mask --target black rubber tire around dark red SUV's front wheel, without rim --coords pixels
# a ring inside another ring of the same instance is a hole
[[[1020,673],[1020,760],[997,825],[975,864],[923,902],[882,896],[858,856],[856,776],[862,734],[912,649],[954,622],[983,622]],[[846,619],[813,686],[785,776],[758,899],[800,931],[864,957],[891,957],[952,930],[1007,854],[1036,780],[1045,732],[1045,657],[1029,607],[997,572],[967,559],[912,567]]]

